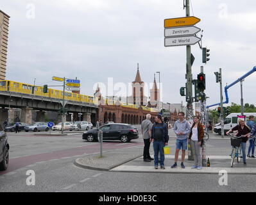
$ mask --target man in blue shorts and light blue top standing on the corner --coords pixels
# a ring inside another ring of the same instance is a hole
[[[183,113],[183,111],[178,113],[178,118],[179,119],[175,122],[175,126],[173,128],[177,136],[177,139],[176,139],[175,163],[171,166],[171,168],[177,167],[178,153],[180,152],[180,149],[182,149],[182,163],[180,164],[180,166],[182,168],[185,168],[184,161],[185,161],[185,151],[187,149],[187,135],[191,131],[191,126],[189,126],[189,123],[187,122],[187,120],[185,120],[185,113]]]

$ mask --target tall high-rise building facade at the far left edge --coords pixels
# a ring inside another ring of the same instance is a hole
[[[0,10],[0,80],[6,76],[9,19],[10,16]]]

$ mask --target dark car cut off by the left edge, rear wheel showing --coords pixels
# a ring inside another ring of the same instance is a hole
[[[0,125],[0,170],[6,170],[9,165],[9,149],[10,145],[7,140],[7,135]]]

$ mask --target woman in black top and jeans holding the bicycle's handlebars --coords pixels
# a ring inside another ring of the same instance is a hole
[[[228,135],[232,131],[238,131],[235,136],[243,136],[241,138],[242,139],[241,147],[242,147],[242,152],[243,152],[244,165],[246,165],[245,151],[246,151],[246,142],[248,140],[248,136],[250,136],[250,128],[246,126],[246,124],[244,123],[244,120],[239,120],[238,125],[233,127],[232,129],[228,130],[226,132],[226,135]]]

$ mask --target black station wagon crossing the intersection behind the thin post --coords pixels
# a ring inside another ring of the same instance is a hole
[[[88,142],[98,141],[98,131],[103,131],[103,140],[121,140],[121,142],[130,142],[139,138],[137,128],[130,124],[112,123],[92,129],[83,133],[83,140]]]

